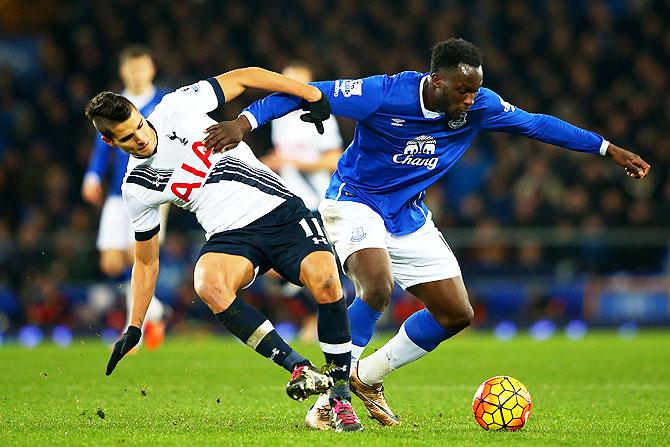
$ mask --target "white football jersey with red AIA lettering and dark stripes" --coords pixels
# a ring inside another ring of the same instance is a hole
[[[218,81],[210,78],[165,95],[147,121],[158,136],[154,155],[130,157],[123,198],[137,240],[158,231],[158,207],[171,202],[195,213],[206,238],[244,227],[293,194],[277,174],[241,142],[215,154],[202,143],[216,121],[207,112],[223,105]]]

